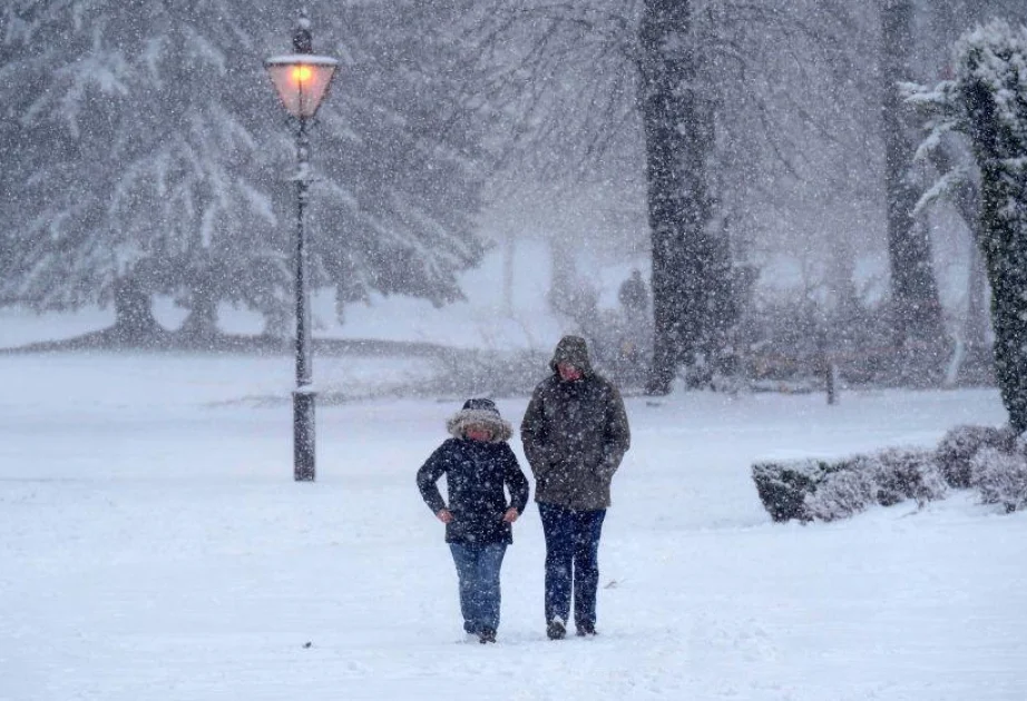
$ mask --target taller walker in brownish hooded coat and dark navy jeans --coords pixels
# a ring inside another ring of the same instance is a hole
[[[561,338],[549,367],[552,374],[528,403],[520,437],[546,536],[546,632],[559,640],[571,590],[578,635],[596,634],[599,536],[630,431],[620,393],[593,369],[584,338]]]

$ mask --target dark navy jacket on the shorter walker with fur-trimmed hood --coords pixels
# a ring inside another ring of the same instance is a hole
[[[446,542],[512,543],[510,524],[502,516],[511,506],[524,513],[528,504],[528,480],[517,456],[502,432],[493,432],[493,441],[486,443],[462,437],[463,425],[457,417],[450,419],[449,427],[460,437],[448,438],[418,471],[418,488],[431,512],[449,509],[453,514],[452,522],[446,524]],[[446,475],[448,506],[436,486],[442,475]],[[510,492],[509,503],[503,486]]]

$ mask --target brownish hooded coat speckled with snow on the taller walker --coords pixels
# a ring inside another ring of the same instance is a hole
[[[584,377],[564,381],[557,364]],[[620,393],[588,361],[585,340],[565,336],[549,364],[552,374],[535,388],[520,438],[535,474],[535,501],[590,511],[610,505],[609,485],[630,446]]]

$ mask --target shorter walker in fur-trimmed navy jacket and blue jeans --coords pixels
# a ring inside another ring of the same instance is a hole
[[[528,480],[507,443],[512,428],[491,399],[468,399],[447,426],[453,436],[418,471],[424,503],[446,524],[457,576],[463,630],[481,643],[496,642],[499,628],[499,570],[510,525],[528,503]],[[436,482],[446,475],[449,505]],[[503,487],[509,490],[510,500]]]

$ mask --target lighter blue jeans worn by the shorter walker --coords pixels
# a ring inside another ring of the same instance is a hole
[[[499,569],[507,552],[506,543],[468,545],[450,543],[460,582],[460,613],[463,630],[480,633],[499,628]]]

